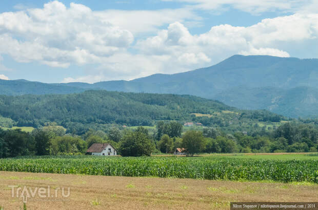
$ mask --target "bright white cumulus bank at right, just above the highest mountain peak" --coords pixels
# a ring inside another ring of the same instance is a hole
[[[136,47],[147,55],[169,55],[174,69],[200,68],[233,54],[289,57],[294,43],[318,41],[318,14],[293,14],[268,18],[249,27],[213,26],[192,35],[181,23],[173,23],[156,36],[138,41]],[[318,51],[313,51],[318,56]],[[167,68],[171,69],[171,68]]]

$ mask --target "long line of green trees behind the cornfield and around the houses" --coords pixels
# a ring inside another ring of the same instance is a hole
[[[0,157],[33,155],[83,155],[93,143],[111,143],[122,156],[150,156],[154,153],[172,153],[183,148],[188,156],[201,152],[316,152],[318,128],[312,124],[285,123],[274,130],[233,135],[218,128],[205,127],[183,132],[178,122],[157,122],[151,133],[145,127],[120,129],[110,127],[88,130],[77,136],[66,133],[56,124],[24,132],[21,129],[0,129]]]

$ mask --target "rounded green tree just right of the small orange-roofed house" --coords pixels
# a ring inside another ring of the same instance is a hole
[[[182,147],[188,156],[201,152],[205,148],[205,140],[201,131],[189,130],[182,137]]]

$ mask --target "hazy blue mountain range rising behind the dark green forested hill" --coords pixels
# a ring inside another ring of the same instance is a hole
[[[214,66],[132,81],[45,84],[0,80],[0,94],[65,94],[87,89],[191,94],[241,109],[318,117],[318,59],[233,55]]]

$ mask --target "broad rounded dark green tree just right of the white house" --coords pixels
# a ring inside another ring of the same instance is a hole
[[[122,156],[150,156],[155,146],[151,139],[141,131],[127,131],[120,146]]]

